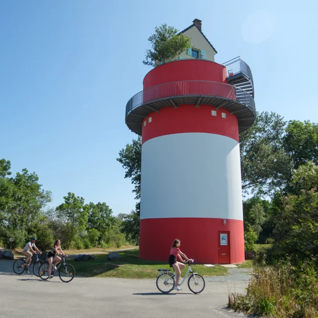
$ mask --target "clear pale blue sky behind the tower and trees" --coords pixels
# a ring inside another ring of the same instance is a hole
[[[195,18],[251,68],[258,111],[318,122],[316,1],[0,1],[0,159],[35,171],[52,206],[74,192],[134,209],[118,152],[137,136],[125,106],[142,90],[148,37]]]

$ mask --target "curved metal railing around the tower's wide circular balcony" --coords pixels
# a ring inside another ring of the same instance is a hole
[[[253,97],[236,86],[216,81],[184,80],[149,87],[134,95],[126,105],[126,117],[136,107],[156,100],[182,96],[213,96],[244,104],[255,113]]]

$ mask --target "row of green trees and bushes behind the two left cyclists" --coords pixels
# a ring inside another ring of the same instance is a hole
[[[32,236],[36,245],[48,250],[56,239],[62,248],[82,249],[106,245],[120,247],[127,243],[120,232],[121,222],[105,202],[85,204],[82,197],[69,192],[64,203],[47,208],[51,192],[44,191],[38,176],[23,169],[11,177],[10,161],[0,160],[0,242],[9,248],[21,248]]]

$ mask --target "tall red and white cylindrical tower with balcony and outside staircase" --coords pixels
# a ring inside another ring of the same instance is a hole
[[[211,45],[197,21],[185,31]],[[221,65],[206,47],[190,50],[200,57],[151,70],[126,106],[127,126],[142,135],[140,257],[167,261],[178,238],[198,263],[239,263],[239,133],[255,119],[252,75],[239,58]]]

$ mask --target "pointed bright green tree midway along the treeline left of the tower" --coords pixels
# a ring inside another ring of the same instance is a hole
[[[56,208],[57,217],[63,224],[64,246],[69,248],[72,240],[83,233],[87,227],[89,205],[84,204],[82,197],[69,192],[65,202]]]

